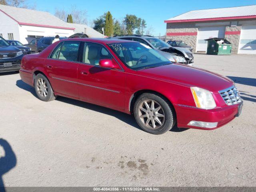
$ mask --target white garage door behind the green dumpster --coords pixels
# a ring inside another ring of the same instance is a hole
[[[198,28],[196,52],[206,52],[207,42],[205,41],[205,39],[214,38],[214,37],[224,38],[225,30],[226,30],[225,26]]]

